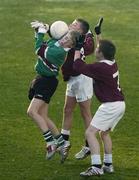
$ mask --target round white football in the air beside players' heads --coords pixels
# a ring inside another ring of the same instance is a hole
[[[68,25],[64,21],[55,21],[50,26],[50,33],[54,39],[60,39],[68,32],[68,30]]]

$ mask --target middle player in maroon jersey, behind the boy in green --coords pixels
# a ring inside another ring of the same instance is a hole
[[[93,34],[89,31],[89,24],[83,19],[76,19],[69,29],[79,31],[84,34],[85,40],[83,47],[80,49],[82,59],[85,56],[94,52],[94,38]],[[72,125],[72,114],[76,104],[79,104],[81,115],[84,119],[85,128],[91,122],[92,114],[90,110],[91,98],[93,95],[92,78],[89,78],[73,69],[75,49],[72,48],[67,55],[66,61],[62,66],[62,74],[65,81],[67,81],[67,89],[65,96],[65,105],[63,113],[63,125],[61,133],[65,139],[65,157],[68,155],[70,149],[70,128]],[[83,159],[90,150],[88,143],[83,146],[81,151],[75,155],[76,159]]]

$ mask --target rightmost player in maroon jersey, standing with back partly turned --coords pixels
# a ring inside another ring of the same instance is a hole
[[[77,40],[73,68],[93,78],[94,93],[101,102],[89,127],[86,138],[91,151],[91,167],[81,172],[81,176],[112,173],[112,140],[109,135],[125,112],[124,96],[119,86],[119,71],[115,62],[115,45],[109,40],[100,40],[95,50],[96,62],[86,64],[80,57],[82,42]],[[100,158],[100,145],[96,135],[100,132],[104,144],[103,165]]]

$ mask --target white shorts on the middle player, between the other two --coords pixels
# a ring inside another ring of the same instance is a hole
[[[67,82],[66,96],[75,97],[77,102],[91,99],[93,96],[93,79],[83,74],[71,76]]]

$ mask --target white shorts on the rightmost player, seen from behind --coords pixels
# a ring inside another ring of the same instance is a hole
[[[123,117],[124,112],[124,101],[103,103],[95,113],[91,125],[100,131],[107,131],[109,129],[113,131],[119,120]]]

